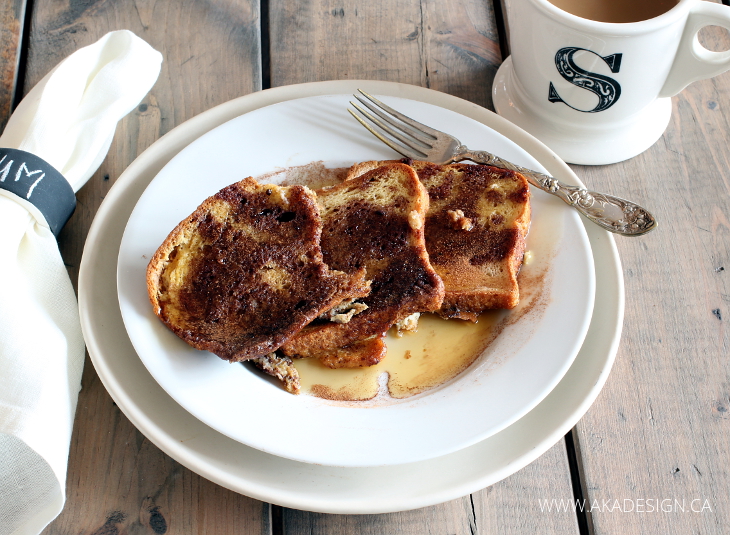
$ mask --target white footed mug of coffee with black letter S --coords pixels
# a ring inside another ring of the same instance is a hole
[[[664,133],[671,97],[730,69],[730,51],[697,38],[730,30],[730,7],[700,0],[506,0],[511,56],[497,113],[563,160],[632,158]]]

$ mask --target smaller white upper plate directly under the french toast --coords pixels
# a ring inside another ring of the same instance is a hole
[[[239,442],[335,466],[430,459],[470,446],[523,416],[558,383],[578,353],[593,309],[593,259],[578,215],[562,201],[538,194],[532,202],[528,250],[540,253],[526,269],[549,272],[545,305],[507,327],[456,380],[403,400],[381,396],[363,408],[293,396],[250,368],[191,348],[155,317],[147,298],[148,259],[170,230],[221,188],[312,161],[344,167],[397,157],[347,113],[351,98],[308,97],[247,113],[173,158],[127,223],[118,268],[122,317],[137,354],[167,393]],[[527,152],[482,123],[430,104],[383,98],[469,146],[540,168]]]

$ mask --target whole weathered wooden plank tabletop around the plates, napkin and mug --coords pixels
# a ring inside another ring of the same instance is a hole
[[[404,82],[491,108],[508,50],[501,11],[492,0],[2,0],[0,127],[53,66],[110,30],[132,30],[164,55],[159,80],[119,123],[60,236],[75,283],[105,194],[175,126],[254,91],[335,79]],[[702,39],[730,48],[718,28]],[[572,432],[535,462],[415,511],[282,508],[219,487],[157,449],[87,360],[68,500],[44,533],[730,533],[730,74],[672,101],[669,128],[645,153],[574,166],[589,187],[652,209],[660,227],[616,240],[626,312],[613,371]],[[574,497],[593,510],[541,510],[541,500]],[[669,510],[650,510],[664,500]]]

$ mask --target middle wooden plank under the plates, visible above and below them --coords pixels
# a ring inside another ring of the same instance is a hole
[[[491,2],[271,0],[270,28],[273,87],[379,79],[431,87],[491,106],[492,80],[501,61]],[[538,498],[572,496],[561,441],[512,477],[445,504],[362,517],[283,509],[281,522],[288,535],[577,533],[572,511],[536,514]]]

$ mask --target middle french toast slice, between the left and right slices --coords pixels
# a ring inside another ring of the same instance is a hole
[[[325,262],[345,273],[364,268],[372,290],[359,300],[367,308],[348,322],[309,325],[281,351],[317,357],[330,367],[376,364],[385,355],[382,338],[392,325],[441,306],[444,287],[423,234],[428,194],[413,168],[390,162],[318,190],[317,202]]]

